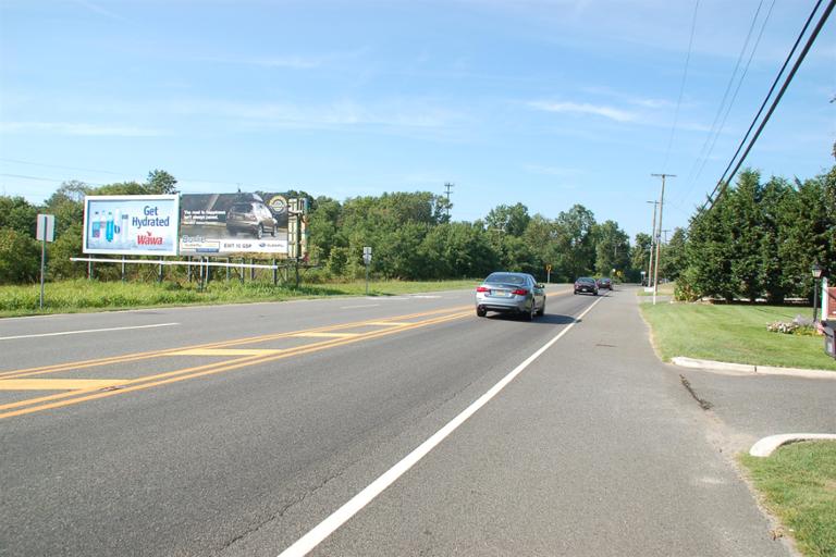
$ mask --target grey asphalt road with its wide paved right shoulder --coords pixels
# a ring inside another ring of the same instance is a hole
[[[637,304],[2,320],[0,554],[275,556],[458,417],[311,555],[789,555]]]

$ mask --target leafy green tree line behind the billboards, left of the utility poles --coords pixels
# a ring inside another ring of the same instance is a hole
[[[84,276],[86,268],[70,261],[82,257],[85,195],[157,195],[176,191],[176,180],[165,171],[148,174],[145,183],[127,182],[90,187],[66,182],[42,205],[22,197],[0,197],[0,283],[37,281],[40,247],[35,238],[36,215],[56,215],[56,242],[48,245],[52,280]],[[381,278],[478,278],[496,269],[529,272],[553,282],[585,274],[635,278],[627,234],[614,221],[598,223],[592,212],[576,205],[555,219],[530,214],[521,203],[500,205],[484,219],[454,222],[447,198],[429,191],[386,193],[339,201],[309,200],[308,250],[317,280],[358,278],[365,273],[362,248],[373,252],[372,272]],[[134,268],[128,273],[142,274]],[[148,273],[152,276],[152,273]],[[97,276],[118,278],[113,268],[99,265]]]

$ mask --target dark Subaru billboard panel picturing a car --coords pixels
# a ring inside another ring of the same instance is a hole
[[[183,194],[180,253],[288,257],[285,194]]]

